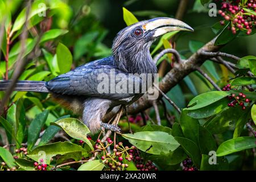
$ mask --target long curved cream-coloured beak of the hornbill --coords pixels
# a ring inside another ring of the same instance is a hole
[[[144,31],[155,31],[154,38],[171,31],[194,31],[188,24],[174,18],[154,18],[148,20],[142,27]]]

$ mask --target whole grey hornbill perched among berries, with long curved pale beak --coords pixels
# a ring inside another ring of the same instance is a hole
[[[150,46],[159,36],[171,31],[193,31],[193,28],[172,18],[154,18],[144,20],[123,28],[113,42],[113,55],[91,61],[68,73],[59,75],[50,81],[18,81],[15,90],[31,92],[49,92],[61,104],[73,111],[82,113],[82,121],[92,133],[105,129],[120,131],[119,127],[103,123],[101,119],[115,106],[129,105],[142,93],[99,93],[98,76],[122,73],[123,80],[132,79],[134,85],[141,85],[138,76],[128,77],[129,73],[157,73],[150,55]],[[9,81],[0,82],[0,90],[5,90]],[[117,82],[115,82],[117,84]]]

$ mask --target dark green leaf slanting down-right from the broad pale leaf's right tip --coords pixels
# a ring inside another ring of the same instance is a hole
[[[188,138],[175,137],[175,139],[180,143],[181,147],[183,147],[184,151],[192,159],[196,167],[200,167],[201,155],[196,143]]]

